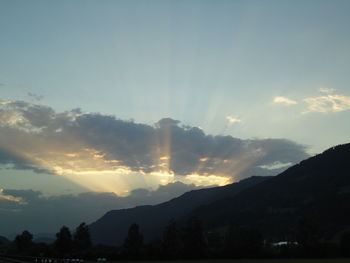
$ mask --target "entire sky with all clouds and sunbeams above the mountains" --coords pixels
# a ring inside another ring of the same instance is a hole
[[[1,0],[9,231],[55,198],[157,203],[349,142],[349,11],[347,0]]]

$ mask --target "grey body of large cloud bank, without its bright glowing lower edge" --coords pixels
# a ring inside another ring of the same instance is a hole
[[[206,135],[170,118],[151,126],[79,109],[56,113],[50,107],[22,101],[0,106],[0,163],[16,169],[46,172],[50,165],[38,167],[37,160],[44,165],[61,160],[57,164],[65,166],[68,157],[64,159],[64,154],[75,152],[88,158],[86,149],[93,149],[114,168],[147,174],[164,170],[161,160],[166,157],[166,169],[175,175],[215,174],[241,179],[276,174],[280,170],[267,168],[294,164],[308,156],[303,145],[286,139]],[[91,167],[79,167],[84,168]]]

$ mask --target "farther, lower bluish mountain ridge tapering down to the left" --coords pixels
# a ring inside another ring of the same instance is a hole
[[[222,187],[193,190],[159,205],[110,211],[89,226],[92,240],[94,243],[121,244],[132,223],[140,225],[146,240],[152,239],[161,234],[170,219],[185,217],[200,205],[232,197],[267,178],[254,176]]]

